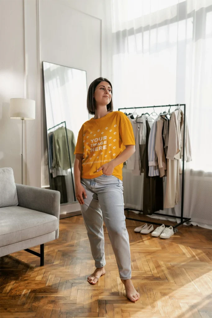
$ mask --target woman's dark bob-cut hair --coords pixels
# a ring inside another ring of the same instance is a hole
[[[87,95],[87,110],[88,113],[91,115],[95,115],[95,110],[96,110],[96,100],[94,98],[94,92],[96,89],[96,86],[99,85],[101,82],[107,82],[111,86],[111,93],[112,93],[112,98],[113,98],[113,87],[111,85],[111,82],[108,79],[104,79],[103,77],[99,77],[98,79],[95,79],[91,85],[88,88],[88,95]],[[108,111],[113,111],[113,100],[111,98],[110,103],[107,105],[107,110]]]

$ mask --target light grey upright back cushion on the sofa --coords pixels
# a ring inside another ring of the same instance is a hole
[[[13,169],[0,168],[0,208],[11,205],[18,205]]]

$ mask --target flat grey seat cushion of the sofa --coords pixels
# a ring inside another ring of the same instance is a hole
[[[56,231],[58,219],[20,206],[0,208],[0,247]]]

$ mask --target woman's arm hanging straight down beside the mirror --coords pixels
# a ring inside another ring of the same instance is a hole
[[[81,205],[84,204],[83,194],[85,196],[85,199],[87,198],[85,189],[81,184],[82,160],[83,160],[82,154],[75,155],[75,161],[74,161],[75,194],[76,194],[77,200],[79,201]]]

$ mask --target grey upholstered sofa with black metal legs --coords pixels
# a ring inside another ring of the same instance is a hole
[[[0,256],[25,250],[39,256],[42,266],[44,243],[59,236],[60,193],[15,184],[11,171],[0,169]],[[5,196],[6,202],[11,201],[9,206],[5,206]],[[40,245],[40,253],[29,249],[36,245]]]

